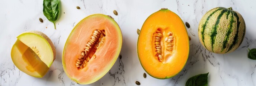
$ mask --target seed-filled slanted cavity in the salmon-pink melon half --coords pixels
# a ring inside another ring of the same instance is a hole
[[[84,68],[90,59],[95,59],[96,50],[105,42],[105,30],[94,30],[86,47],[82,50],[80,57],[76,60],[76,67],[78,70]]]

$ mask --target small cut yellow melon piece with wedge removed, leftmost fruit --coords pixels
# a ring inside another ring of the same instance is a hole
[[[22,72],[43,77],[55,59],[55,48],[42,32],[30,31],[20,34],[11,49],[11,59]]]

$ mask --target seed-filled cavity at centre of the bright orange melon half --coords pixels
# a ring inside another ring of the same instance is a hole
[[[174,35],[172,32],[165,32],[161,28],[158,28],[155,33],[153,33],[153,36],[153,43],[155,43],[154,48],[156,52],[155,56],[159,62],[164,63],[164,57],[167,55],[168,57],[171,56],[170,54],[172,54],[174,50]]]

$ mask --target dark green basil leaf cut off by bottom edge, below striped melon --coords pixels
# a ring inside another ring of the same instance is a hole
[[[208,72],[209,73],[209,72]],[[208,73],[199,74],[190,77],[185,86],[207,86],[208,85]]]

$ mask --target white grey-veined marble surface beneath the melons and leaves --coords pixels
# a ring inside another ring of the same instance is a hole
[[[256,61],[247,58],[247,48],[256,48],[255,0],[61,0],[60,18],[53,23],[43,15],[43,0],[0,0],[0,86],[78,86],[63,71],[61,55],[73,27],[88,15],[111,15],[123,33],[122,59],[99,81],[87,86],[184,86],[189,77],[209,72],[209,86],[255,86]],[[80,6],[81,9],[76,9]],[[241,46],[228,54],[210,53],[199,42],[198,25],[206,11],[218,7],[232,7],[245,19],[247,32]],[[137,57],[137,28],[146,18],[168,8],[188,22],[191,37],[190,54],[184,69],[175,77],[158,80],[147,75]],[[118,16],[113,14],[117,10]],[[44,20],[39,22],[38,18]],[[57,57],[43,78],[31,77],[16,68],[10,51],[16,36],[28,30],[48,35],[56,47]]]

